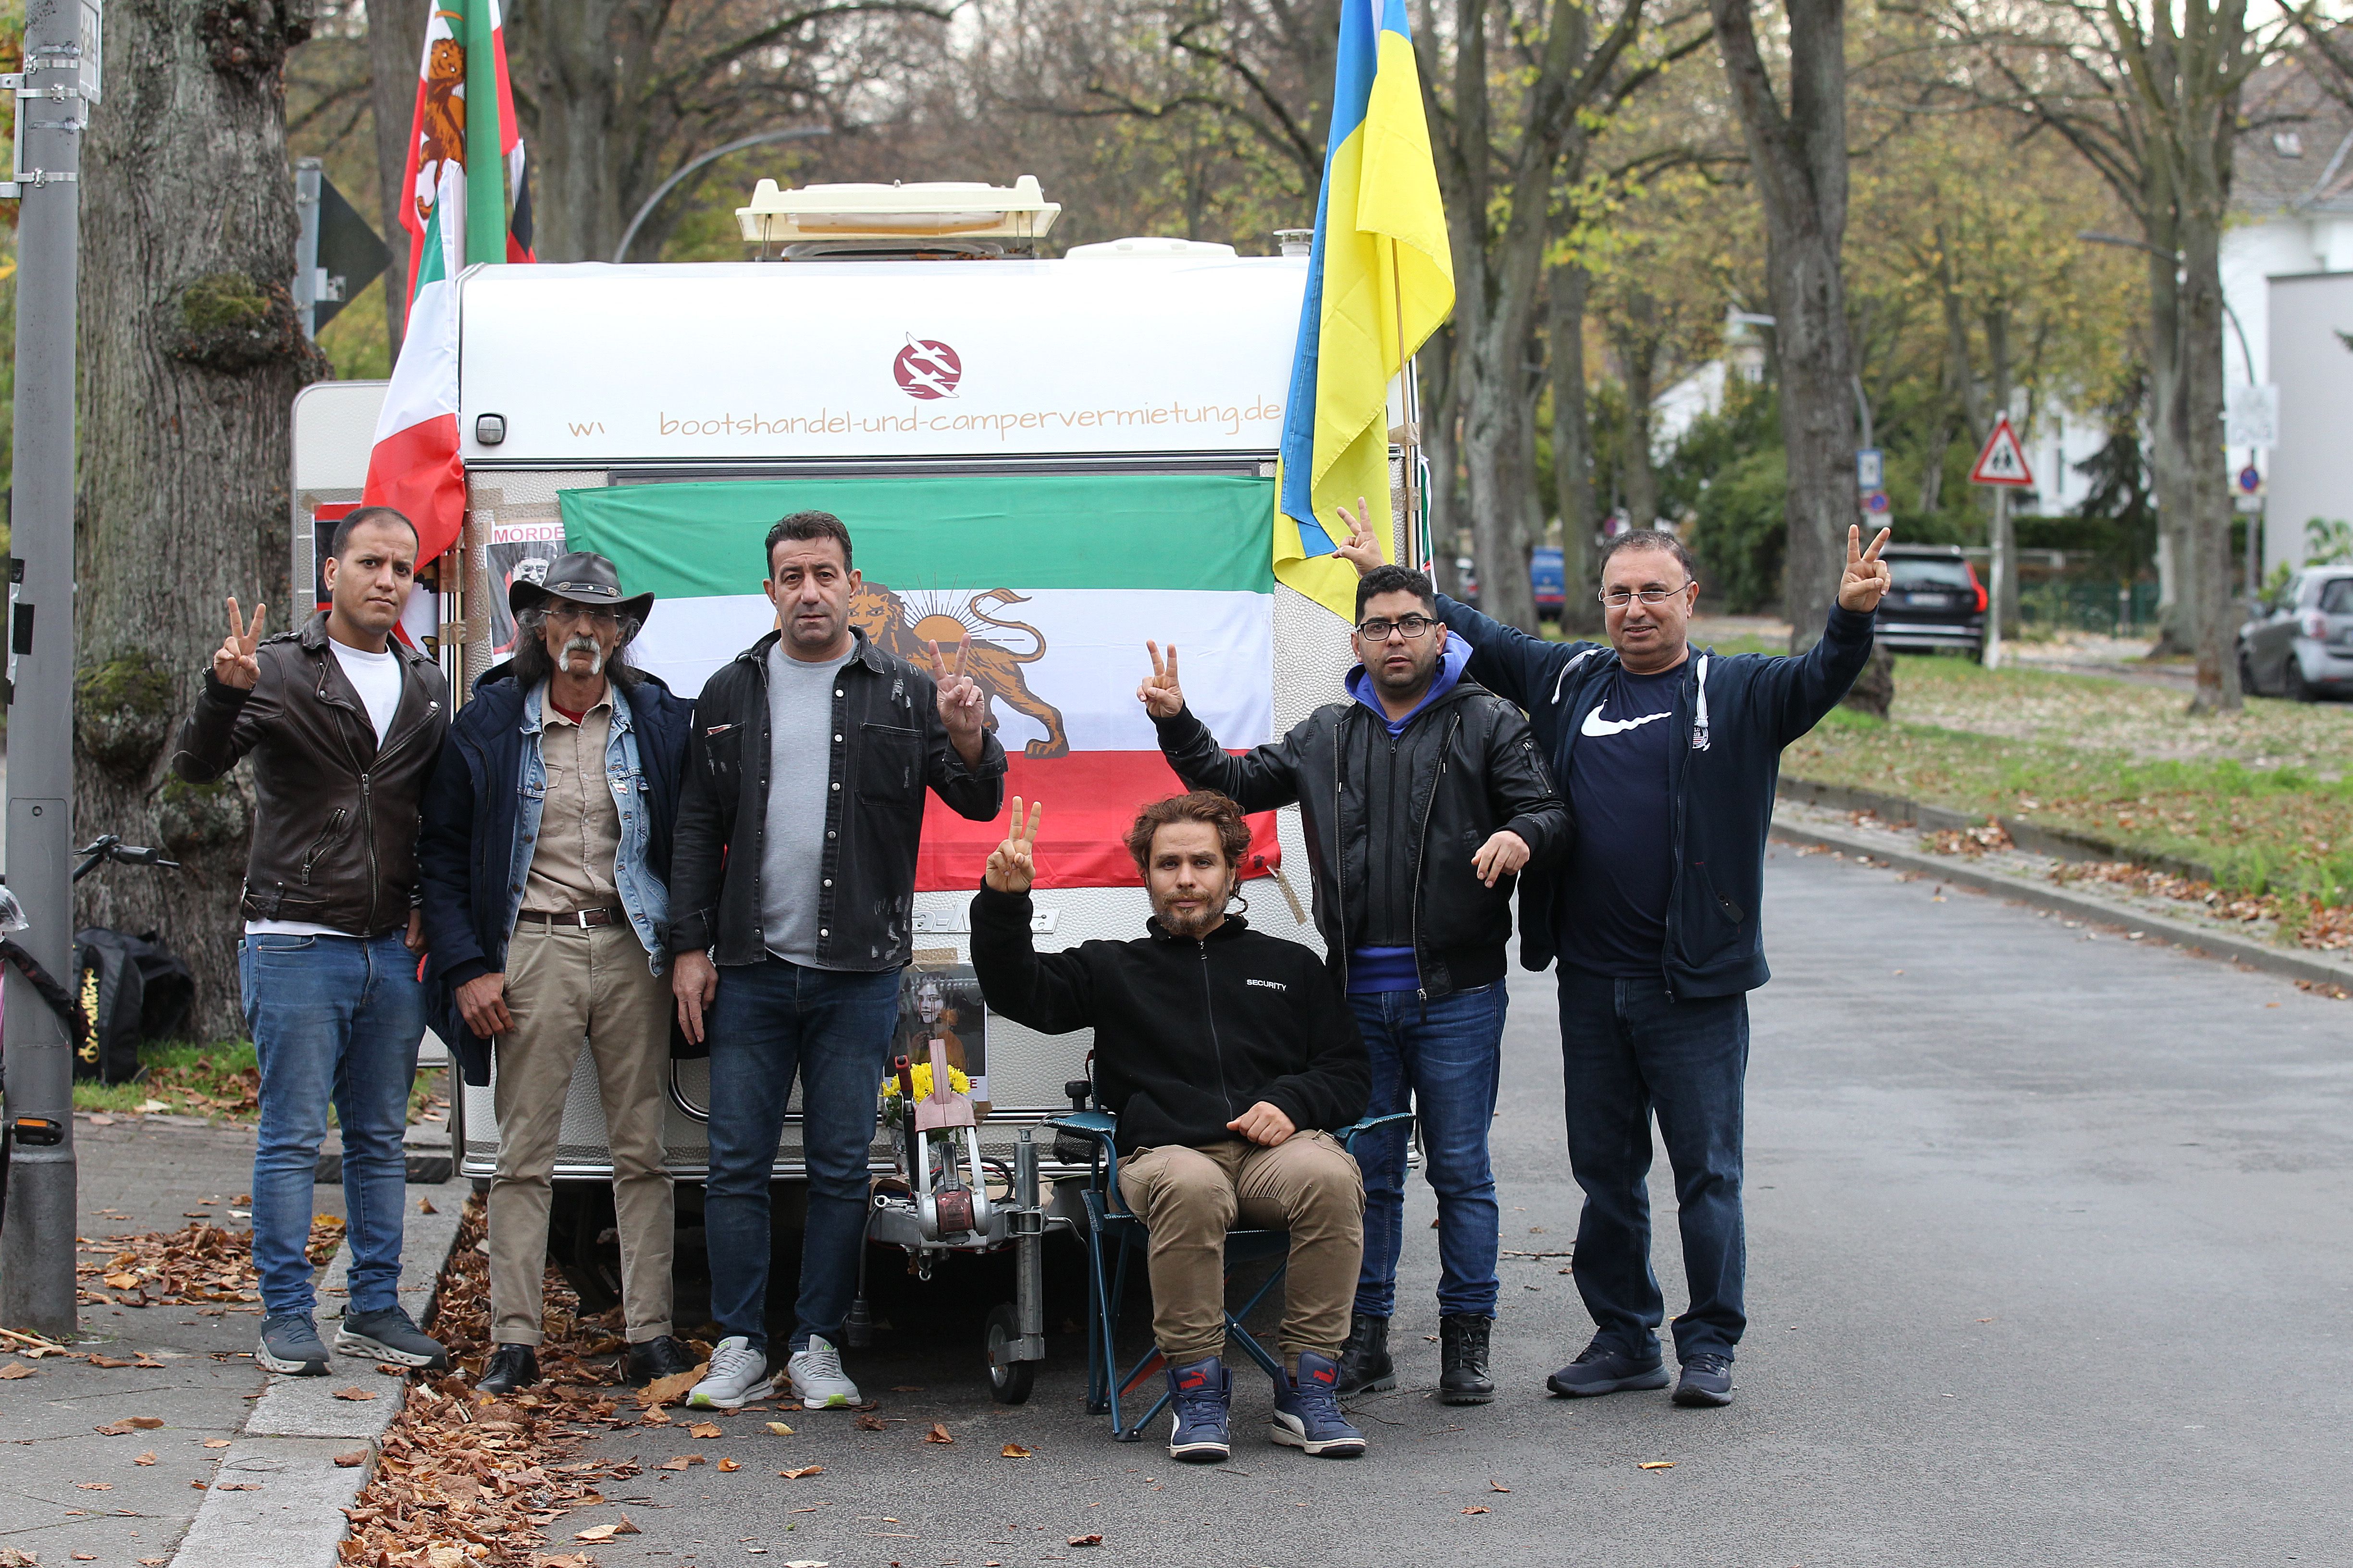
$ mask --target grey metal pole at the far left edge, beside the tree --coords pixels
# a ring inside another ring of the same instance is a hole
[[[73,320],[80,263],[85,0],[31,0],[16,89],[16,604],[9,625],[7,872],[52,976],[73,957]],[[16,1140],[0,1234],[0,1324],[52,1338],[73,1307],[73,1041],[21,973],[7,973],[7,1114],[64,1131]]]

